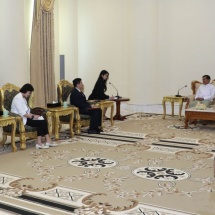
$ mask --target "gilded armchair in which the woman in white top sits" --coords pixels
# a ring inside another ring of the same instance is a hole
[[[0,89],[0,110],[6,109],[9,111],[10,116],[14,116],[16,118],[16,131],[15,137],[20,138],[20,149],[26,148],[26,139],[27,138],[37,138],[37,128],[31,127],[29,125],[23,124],[23,119],[18,114],[11,113],[11,104],[13,98],[19,93],[20,88],[7,83]],[[28,105],[30,108],[33,108],[33,93],[28,100]],[[48,120],[49,125],[49,132],[51,132],[51,113],[46,112],[46,118]],[[3,141],[2,143],[5,144],[7,140],[7,136],[11,136],[11,125],[3,127]]]

